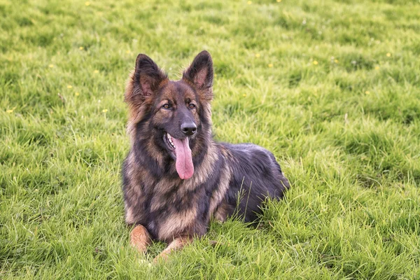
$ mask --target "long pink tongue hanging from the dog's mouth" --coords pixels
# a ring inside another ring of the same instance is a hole
[[[176,172],[178,172],[179,178],[190,179],[194,173],[194,165],[188,138],[179,140],[172,137],[172,141],[176,153]]]

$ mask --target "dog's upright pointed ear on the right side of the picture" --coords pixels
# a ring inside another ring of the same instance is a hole
[[[212,99],[213,60],[207,50],[203,50],[195,57],[193,63],[183,72],[182,78],[193,83],[197,90],[204,92],[207,99]]]

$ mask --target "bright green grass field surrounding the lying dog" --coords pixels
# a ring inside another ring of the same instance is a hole
[[[420,279],[419,1],[0,0],[1,279]],[[120,165],[139,52],[214,59],[216,139],[293,185],[151,265]],[[211,240],[218,241],[211,246]]]

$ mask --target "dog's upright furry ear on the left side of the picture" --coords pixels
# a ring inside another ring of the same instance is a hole
[[[131,74],[125,90],[125,102],[137,103],[153,96],[168,77],[147,55],[140,54],[136,59],[136,69]]]

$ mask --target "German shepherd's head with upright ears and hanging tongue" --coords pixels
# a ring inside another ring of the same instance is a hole
[[[176,81],[169,80],[150,57],[140,54],[127,82],[125,102],[130,106],[127,129],[132,141],[141,140],[136,139],[139,136],[135,133],[141,125],[141,130],[148,134],[141,136],[148,151],[174,160],[181,179],[193,176],[194,147],[200,146],[197,143],[211,133],[212,84],[213,62],[205,50]]]

